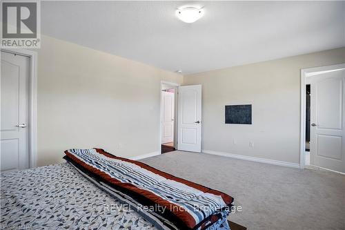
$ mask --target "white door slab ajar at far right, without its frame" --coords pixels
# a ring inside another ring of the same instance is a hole
[[[345,70],[311,77],[311,164],[345,173]]]

